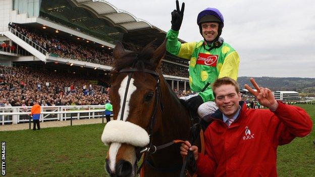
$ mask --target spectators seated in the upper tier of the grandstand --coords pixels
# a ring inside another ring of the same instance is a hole
[[[52,36],[48,33],[41,33],[38,30],[11,24],[18,32],[35,42],[49,54],[57,55],[61,58],[74,59],[101,65],[113,66],[114,60],[112,54],[104,49],[91,48],[88,45],[82,45],[68,39]],[[162,71],[167,75],[188,77],[188,68],[184,66],[162,63]]]

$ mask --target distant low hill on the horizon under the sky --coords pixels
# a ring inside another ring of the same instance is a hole
[[[295,91],[299,93],[315,93],[315,78],[301,77],[253,77],[259,86],[268,87],[272,91]],[[250,77],[238,77],[241,88],[250,86]]]

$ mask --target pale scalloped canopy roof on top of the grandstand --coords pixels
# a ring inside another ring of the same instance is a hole
[[[124,31],[123,42],[145,46],[156,39],[155,43],[160,45],[166,32],[151,25],[145,20],[138,19],[131,13],[117,9],[114,5],[103,0],[70,0],[77,7],[84,8],[97,18],[108,21],[111,26],[118,27]],[[184,42],[184,40],[181,40]]]

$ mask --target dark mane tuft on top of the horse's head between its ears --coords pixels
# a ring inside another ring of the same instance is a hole
[[[143,49],[135,52],[125,52],[119,58],[115,58],[113,72],[118,72],[124,68],[150,69],[154,70],[157,66],[150,60],[153,58],[154,48],[152,42]]]

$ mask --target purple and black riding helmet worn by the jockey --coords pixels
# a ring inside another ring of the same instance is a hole
[[[197,24],[199,26],[200,34],[202,35],[202,28],[201,23],[202,22],[218,22],[219,23],[219,30],[218,30],[218,36],[222,33],[222,28],[224,26],[224,18],[221,12],[216,8],[206,8],[205,10],[201,11],[198,14],[197,17]],[[215,39],[216,40],[216,39]]]

